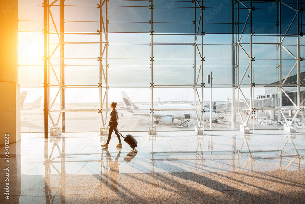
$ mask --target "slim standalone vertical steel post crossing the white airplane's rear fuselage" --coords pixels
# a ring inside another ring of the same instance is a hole
[[[150,69],[151,69],[151,117],[152,117],[152,127],[153,127],[153,124],[154,124],[154,121],[153,121],[153,49],[152,49],[152,46],[153,46],[153,39],[152,39],[152,33],[153,33],[153,0],[151,0],[151,5],[150,5],[150,18],[151,18],[151,25],[150,25]],[[152,129],[152,133],[153,133],[153,129]]]

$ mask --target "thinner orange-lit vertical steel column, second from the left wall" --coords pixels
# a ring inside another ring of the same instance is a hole
[[[59,4],[59,26],[60,26],[60,84],[65,84],[65,19],[64,19],[64,2],[60,0]],[[65,87],[61,89],[60,109],[65,109]],[[65,112],[62,112],[62,132],[65,132]]]

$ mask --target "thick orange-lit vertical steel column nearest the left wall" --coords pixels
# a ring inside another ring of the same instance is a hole
[[[44,40],[44,133],[48,138],[48,1],[43,1],[43,40]]]

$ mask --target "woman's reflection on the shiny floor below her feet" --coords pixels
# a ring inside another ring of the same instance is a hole
[[[108,174],[110,175],[110,180],[111,180],[111,187],[110,189],[113,191],[117,191],[117,181],[119,179],[119,157],[121,155],[121,150],[122,148],[118,148],[119,149],[119,153],[117,154],[116,158],[114,159],[114,161],[111,160],[111,155],[109,153],[109,151],[106,149],[107,152],[107,159],[109,162],[109,172]]]

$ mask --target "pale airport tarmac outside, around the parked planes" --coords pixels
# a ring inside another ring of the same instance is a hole
[[[99,109],[98,105],[86,105],[86,104],[77,104],[73,106],[67,106],[67,109],[80,109],[80,110],[97,110]],[[151,117],[150,116],[139,116],[122,110],[119,108],[118,104],[118,113],[119,113],[119,126],[118,128],[121,131],[148,131],[151,127]],[[59,110],[58,105],[54,105],[52,110]],[[123,116],[121,114],[123,113]],[[59,117],[59,112],[51,112],[52,119],[56,123]],[[231,130],[231,114],[219,113],[219,116],[224,117],[224,121],[218,120],[218,123],[213,123],[212,128],[210,127],[210,122],[203,122],[204,130]],[[105,117],[105,116],[104,116]],[[44,130],[44,121],[43,121],[43,108],[38,108],[34,110],[22,110],[21,111],[21,132],[43,132]],[[247,116],[242,114],[242,118],[246,121]],[[110,116],[108,114],[108,120]],[[155,119],[154,119],[155,121]],[[236,114],[236,128],[239,129],[239,126],[242,124],[242,120],[238,114]],[[301,123],[302,121],[300,119]],[[187,127],[177,127],[177,124],[180,120],[175,119],[174,124],[154,124],[156,131],[193,131],[195,130],[195,125],[197,124],[196,119],[191,119]],[[52,121],[48,117],[48,124],[50,129],[52,127]],[[107,123],[108,124],[108,123]],[[273,126],[262,125],[257,120],[249,119],[251,130],[259,129],[283,129],[282,125]],[[62,127],[61,119],[59,120],[59,126]],[[66,112],[65,113],[65,132],[99,132],[100,127],[103,126],[101,114],[97,111],[84,112],[84,111],[75,111],[75,112]]]

